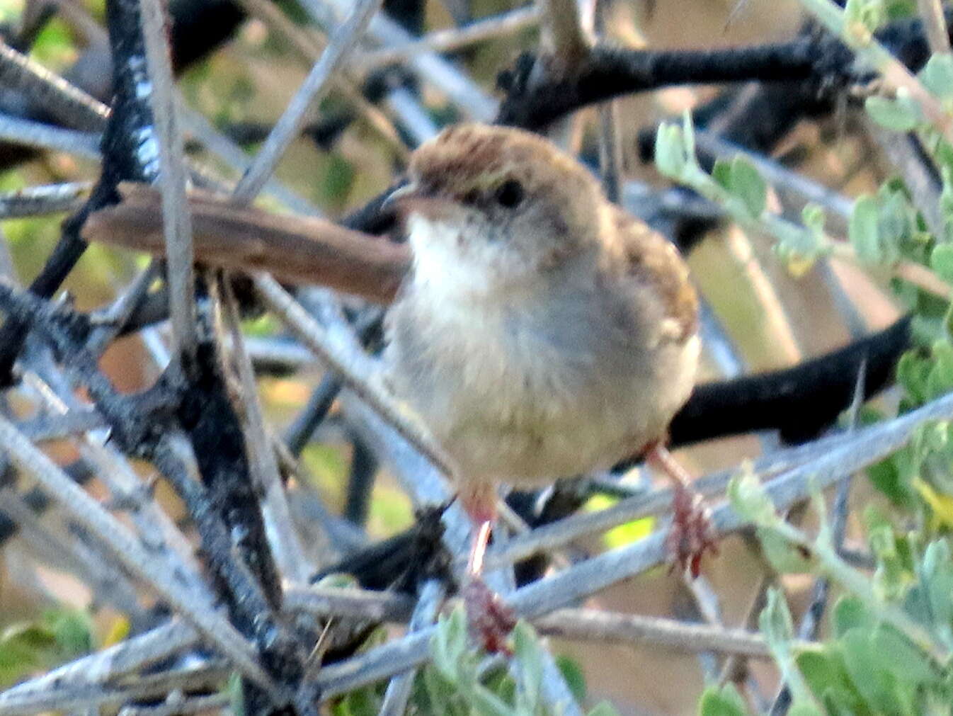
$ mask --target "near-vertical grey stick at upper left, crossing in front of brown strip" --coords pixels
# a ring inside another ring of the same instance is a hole
[[[159,0],[140,0],[139,16],[149,65],[155,139],[158,142],[159,188],[162,198],[162,234],[166,242],[166,276],[169,281],[169,314],[176,358],[189,362],[198,345],[195,317],[195,268],[192,213],[186,195],[184,143],[178,126],[172,92],[165,10]]]

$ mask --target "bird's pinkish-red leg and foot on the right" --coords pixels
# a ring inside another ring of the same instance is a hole
[[[692,487],[692,477],[661,442],[653,443],[645,451],[645,461],[660,470],[675,485],[672,500],[672,530],[665,543],[672,567],[688,568],[692,577],[698,577],[701,557],[706,550],[718,554],[715,529],[701,496]]]

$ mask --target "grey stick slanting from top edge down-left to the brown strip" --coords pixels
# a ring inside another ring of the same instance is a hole
[[[255,154],[252,166],[235,187],[236,199],[251,201],[261,191],[268,177],[274,172],[274,167],[281,155],[285,153],[288,145],[294,141],[301,129],[308,108],[319,101],[324,92],[327,92],[331,75],[347,56],[348,51],[360,40],[364,29],[371,22],[371,18],[379,10],[382,2],[383,0],[360,0],[355,5],[344,25],[335,33],[335,37],[321,53],[321,58],[314,63],[314,68],[301,83],[298,91],[294,93],[294,97],[271,133],[268,134],[259,152]]]

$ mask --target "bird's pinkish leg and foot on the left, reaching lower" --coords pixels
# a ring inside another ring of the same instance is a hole
[[[474,524],[474,539],[467,560],[463,603],[473,635],[489,652],[509,652],[506,638],[516,619],[499,595],[483,581],[483,558],[497,518],[497,492],[492,485],[475,485],[460,490],[460,502]]]

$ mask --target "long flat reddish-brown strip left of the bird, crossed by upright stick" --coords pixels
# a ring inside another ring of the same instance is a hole
[[[90,216],[83,238],[162,256],[159,193],[127,183],[120,193],[121,203]],[[410,265],[405,245],[324,219],[270,214],[194,190],[189,207],[195,257],[212,266],[264,270],[282,281],[319,283],[390,303]]]

